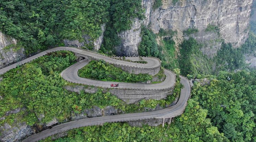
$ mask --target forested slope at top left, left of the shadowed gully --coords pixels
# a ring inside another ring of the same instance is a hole
[[[2,0],[0,31],[19,39],[29,54],[84,34],[96,39],[108,9],[107,0]]]

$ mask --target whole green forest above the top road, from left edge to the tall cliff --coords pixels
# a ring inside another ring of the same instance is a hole
[[[131,28],[135,18],[143,19],[140,0],[2,0],[0,31],[20,40],[26,53],[57,46],[62,39],[92,40],[104,36],[106,50],[120,44],[117,33]]]

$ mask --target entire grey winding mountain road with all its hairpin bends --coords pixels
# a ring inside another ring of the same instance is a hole
[[[29,57],[27,59],[24,59],[18,63],[14,63],[8,67],[5,67],[3,69],[0,69],[0,74],[3,74],[10,69],[15,68],[17,65],[24,64],[26,62],[30,62],[33,59],[36,59],[40,56],[46,55],[49,52],[59,51],[59,50],[69,50],[73,51],[75,53],[86,55],[89,57],[92,57],[92,59],[102,59],[105,60],[108,63],[113,64],[120,64],[121,66],[129,66],[129,67],[138,67],[138,68],[155,68],[159,67],[161,65],[161,61],[157,58],[143,58],[148,63],[147,64],[139,64],[139,63],[133,63],[133,62],[126,62],[121,60],[116,60],[113,58],[109,58],[103,55],[96,54],[95,52],[86,51],[78,48],[72,48],[72,47],[56,47],[52,48],[46,51],[43,51],[37,55],[34,55],[32,57]],[[129,59],[133,60],[137,57],[129,57]],[[93,85],[93,86],[100,86],[100,87],[107,87],[109,88],[110,82],[104,82],[104,81],[96,81],[96,80],[90,80],[90,79],[84,79],[80,78],[77,74],[78,70],[81,69],[83,66],[85,66],[88,63],[88,61],[82,60],[79,61],[69,68],[65,69],[61,76],[70,82],[74,83],[80,83],[80,84],[86,84],[86,85]],[[145,89],[145,90],[157,90],[162,89],[166,87],[173,86],[175,84],[175,75],[168,70],[165,70],[166,79],[162,83],[159,84],[139,84],[139,83],[121,83],[119,82],[118,88],[132,88],[132,89]],[[34,135],[31,135],[30,137],[23,140],[23,142],[36,142],[39,140],[42,140],[44,138],[47,138],[51,135],[54,135],[56,133],[64,132],[70,129],[84,127],[84,126],[92,126],[92,125],[99,125],[103,124],[105,122],[124,122],[124,121],[134,121],[134,120],[144,120],[144,119],[153,119],[153,118],[172,118],[176,117],[178,115],[181,115],[186,108],[187,100],[190,96],[190,83],[189,81],[181,77],[181,83],[184,85],[184,88],[181,90],[181,95],[179,97],[179,100],[176,105],[161,109],[161,110],[155,110],[155,111],[149,111],[144,113],[131,113],[131,114],[121,114],[121,115],[112,115],[112,116],[102,116],[102,117],[93,117],[93,118],[85,118],[85,119],[79,119],[70,121],[67,123],[62,123],[60,125],[54,126],[51,129],[44,130],[42,132],[36,133]],[[111,82],[112,83],[112,82]]]

